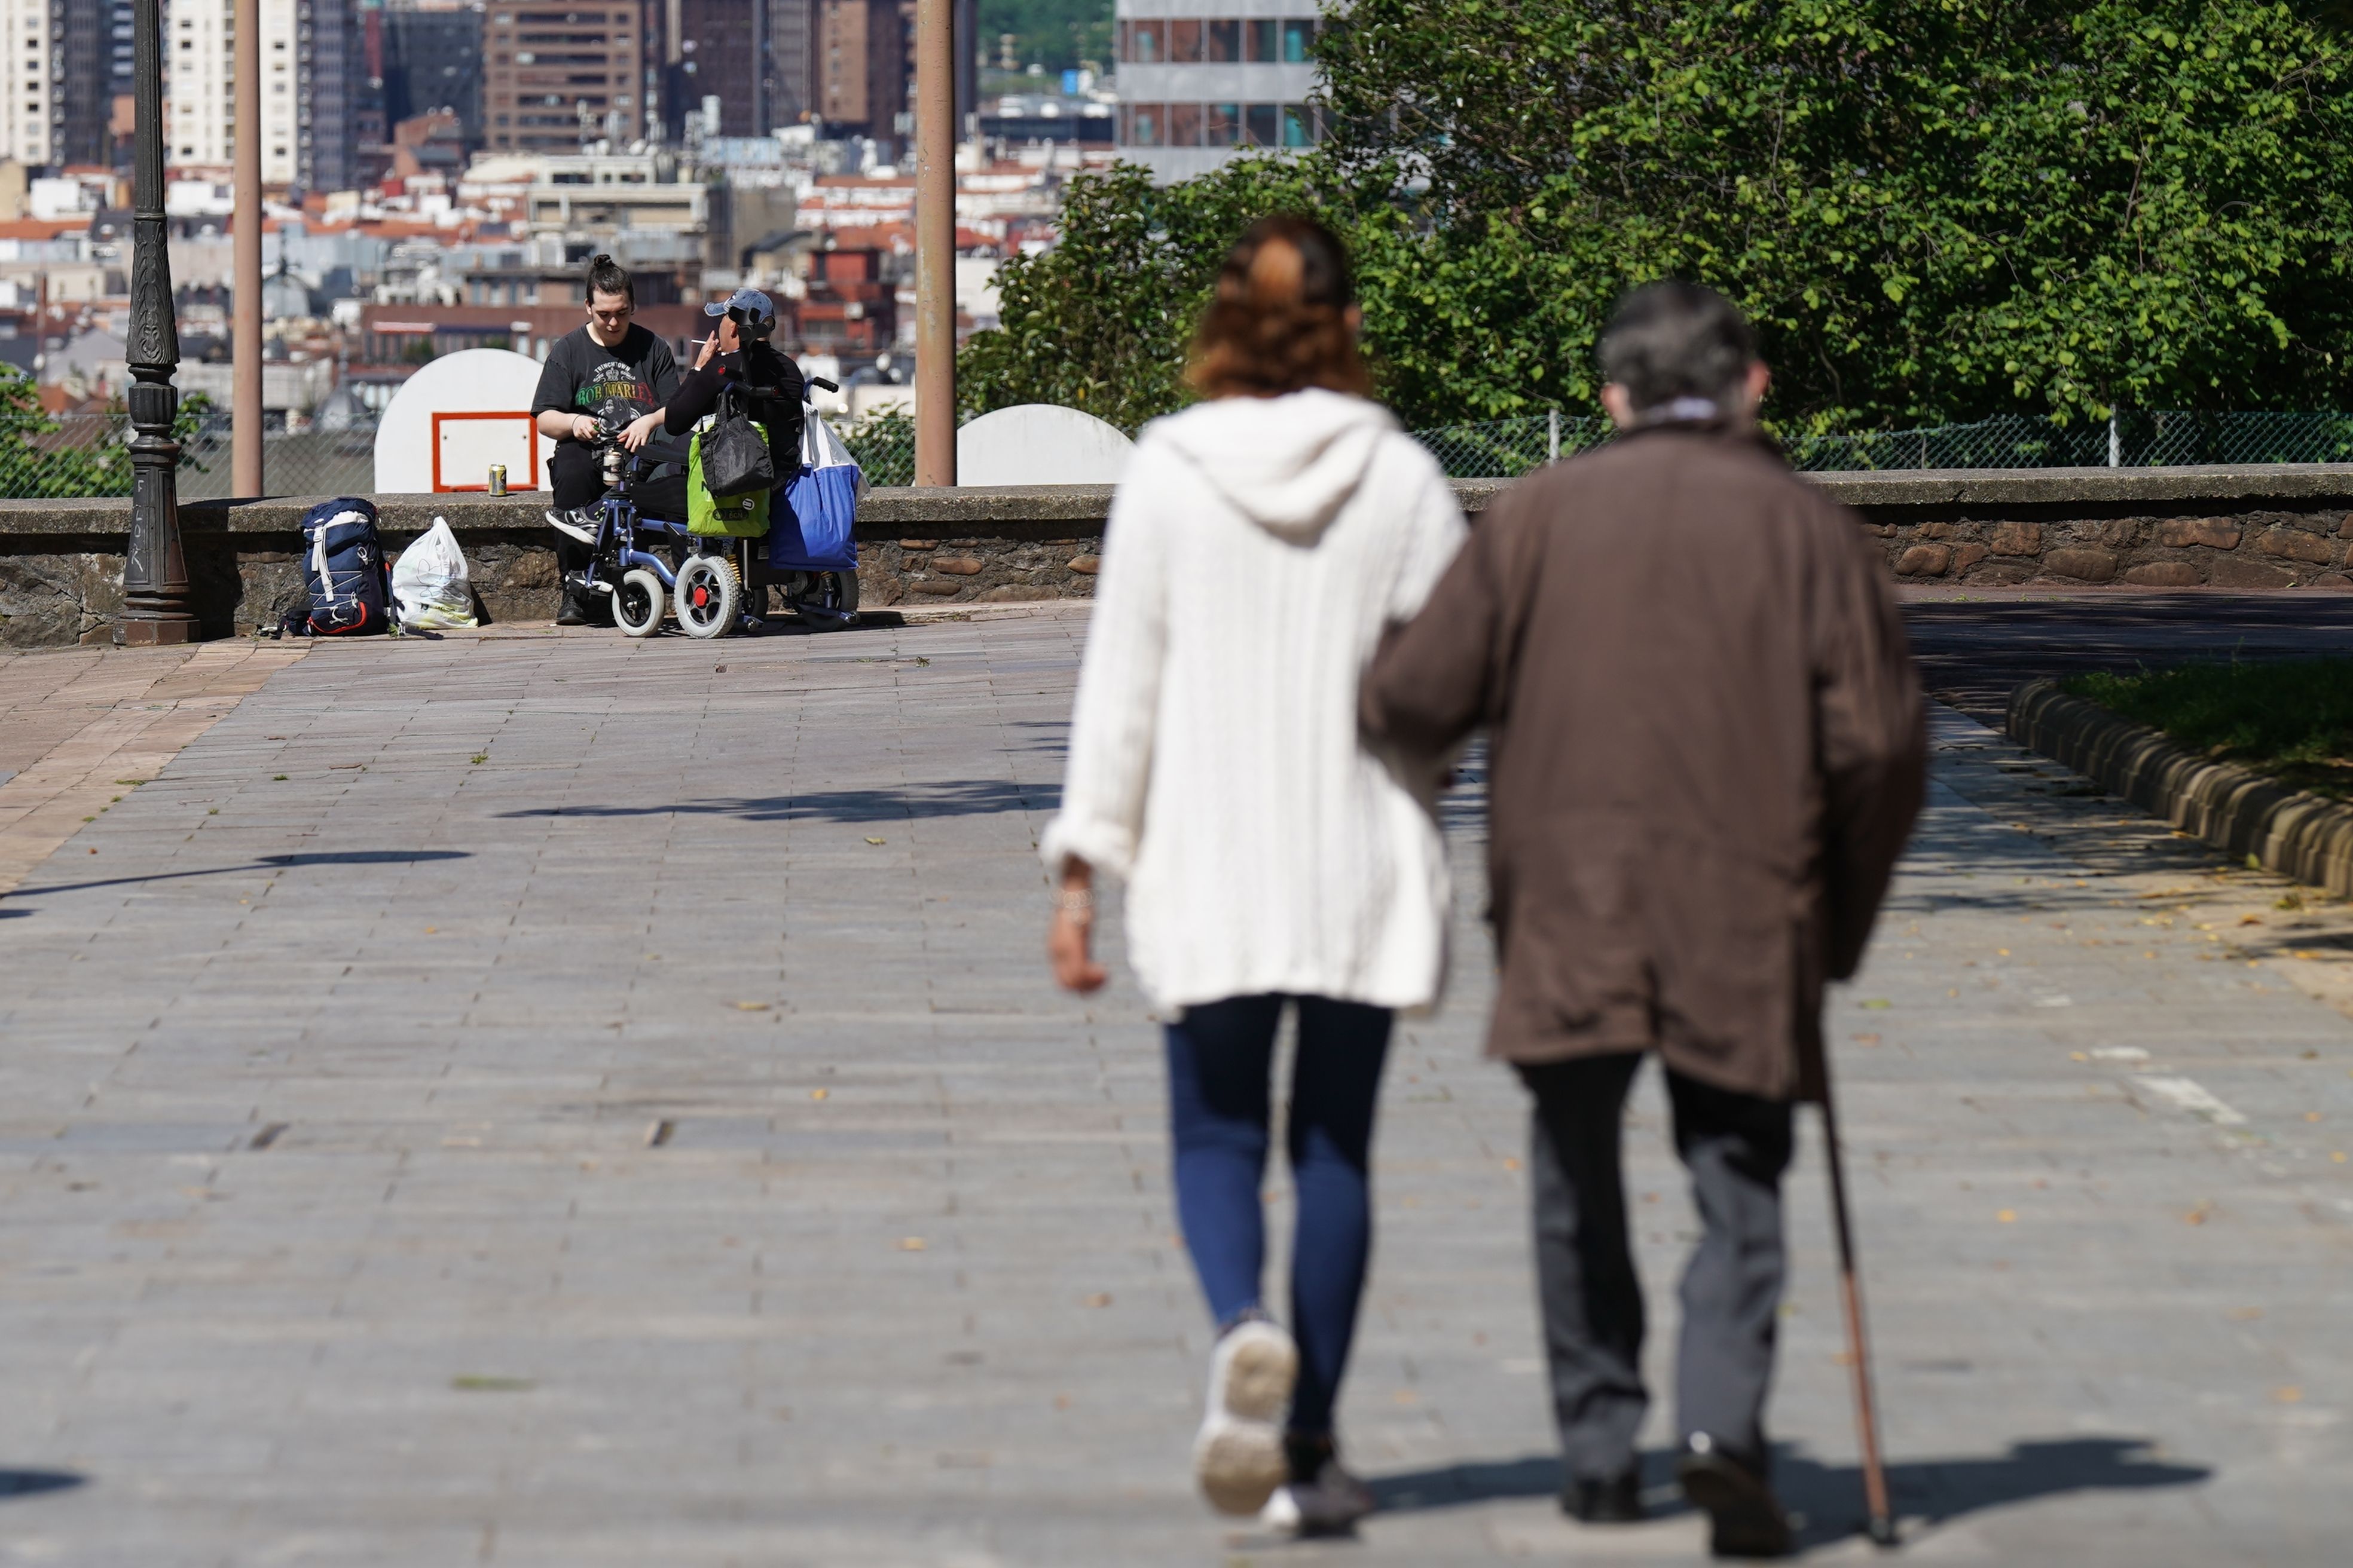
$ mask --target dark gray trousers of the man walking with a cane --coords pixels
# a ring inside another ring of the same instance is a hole
[[[1527,1138],[1537,1298],[1553,1368],[1553,1418],[1572,1479],[1635,1467],[1642,1281],[1626,1239],[1619,1128],[1640,1053],[1520,1067],[1537,1095]],[[1675,1425],[1762,1465],[1765,1394],[1781,1307],[1781,1171],[1791,1107],[1666,1074],[1675,1152],[1692,1173],[1701,1237],[1682,1272]]]

